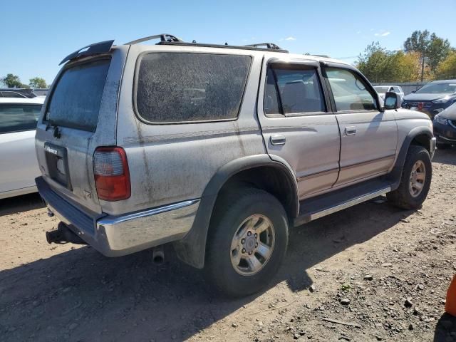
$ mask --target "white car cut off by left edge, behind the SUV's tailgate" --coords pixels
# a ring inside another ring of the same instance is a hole
[[[36,121],[43,98],[0,98],[0,199],[36,192]]]

